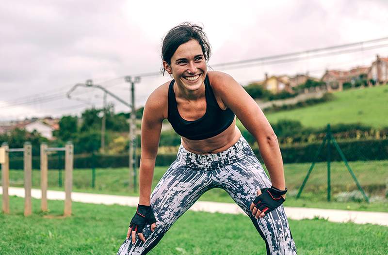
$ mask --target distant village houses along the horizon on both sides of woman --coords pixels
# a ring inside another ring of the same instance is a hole
[[[322,81],[323,87],[315,87],[313,90],[325,90],[327,92],[342,91],[345,83],[355,84],[359,80],[366,80],[368,86],[375,84],[384,84],[388,82],[388,57],[381,58],[376,56],[376,60],[371,66],[357,66],[350,70],[326,70],[321,79],[310,77],[307,74],[297,74],[296,76],[280,75],[268,76],[265,75],[265,80],[252,82],[250,85],[263,86],[266,90],[277,94],[281,92],[295,93],[295,89],[307,80]],[[353,87],[353,86],[352,86]],[[309,91],[305,89],[305,93]],[[25,129],[28,132],[34,130],[40,133],[41,136],[53,140],[53,131],[59,129],[59,118],[45,117],[32,118],[22,121],[7,121],[0,122],[0,134],[9,133],[10,131],[19,128]]]

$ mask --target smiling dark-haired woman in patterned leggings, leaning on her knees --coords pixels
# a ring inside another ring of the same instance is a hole
[[[163,74],[174,80],[147,99],[142,120],[140,199],[118,255],[146,254],[206,191],[222,188],[250,217],[267,254],[296,254],[281,204],[285,186],[276,135],[263,112],[229,75],[207,71],[210,45],[202,28],[184,23],[163,40]],[[271,176],[236,126],[257,139]],[[162,121],[181,136],[177,159],[151,193]],[[272,185],[272,186],[271,186]]]

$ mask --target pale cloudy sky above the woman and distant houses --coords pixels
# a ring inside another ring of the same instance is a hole
[[[124,1],[4,0],[0,3],[0,121],[79,114],[102,106],[102,93],[79,88],[92,79],[129,101],[124,76],[158,72],[163,35],[175,25],[201,24],[212,46],[210,66],[388,37],[386,0]],[[214,67],[242,85],[269,75],[369,65],[388,56],[388,41],[346,54],[298,61]],[[377,46],[376,46],[377,45]],[[327,52],[326,52],[327,53]],[[330,53],[330,51],[328,52]],[[136,107],[169,76],[143,77]],[[116,111],[127,107],[108,97]]]

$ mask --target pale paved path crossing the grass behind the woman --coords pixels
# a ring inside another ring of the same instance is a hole
[[[10,195],[24,197],[24,188],[9,188]],[[2,189],[0,186],[0,194]],[[41,192],[38,189],[32,189],[31,195],[33,198],[40,199]],[[138,197],[131,196],[117,196],[106,194],[92,194],[72,192],[72,200],[81,203],[104,204],[104,205],[122,205],[136,207],[139,201]],[[64,191],[48,191],[47,198],[49,200],[65,200]],[[190,208],[193,211],[206,212],[220,212],[230,214],[243,214],[240,207],[233,203],[219,203],[219,202],[204,202],[197,201],[194,206]],[[367,211],[350,211],[350,210],[335,210],[335,209],[319,209],[319,208],[305,208],[305,207],[285,207],[286,214],[289,219],[301,220],[312,219],[314,217],[323,217],[330,222],[354,222],[357,224],[379,224],[388,226],[387,212],[367,212]]]

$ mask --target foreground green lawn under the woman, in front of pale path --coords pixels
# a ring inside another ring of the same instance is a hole
[[[34,214],[24,217],[23,199],[11,197],[11,214],[0,214],[1,255],[115,254],[135,212],[133,207],[73,203],[73,216],[61,218],[62,201],[50,201],[49,213],[39,212],[39,204],[34,199]],[[383,255],[388,250],[385,226],[315,219],[290,220],[290,227],[299,255]],[[188,211],[149,254],[265,254],[265,244],[244,215]]]

